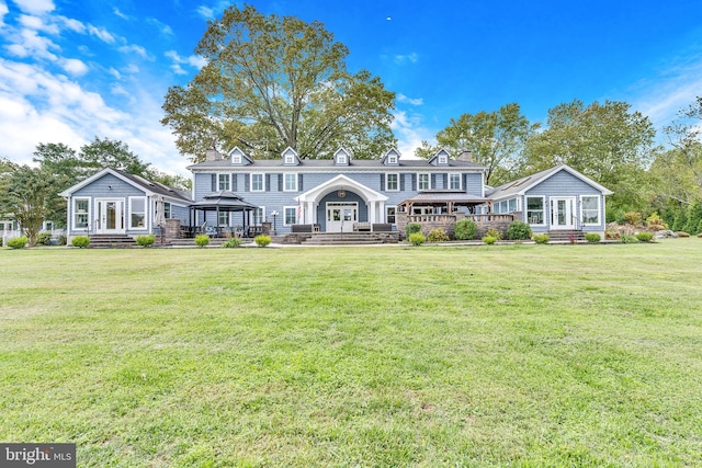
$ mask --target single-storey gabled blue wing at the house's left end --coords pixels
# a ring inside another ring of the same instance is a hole
[[[168,219],[190,224],[190,194],[116,169],[103,169],[60,193],[68,238],[160,233]]]

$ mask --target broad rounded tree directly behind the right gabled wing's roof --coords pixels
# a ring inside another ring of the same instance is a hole
[[[655,136],[648,117],[625,102],[559,104],[548,111],[547,128],[526,141],[525,173],[566,163],[614,192],[612,212],[642,210]]]

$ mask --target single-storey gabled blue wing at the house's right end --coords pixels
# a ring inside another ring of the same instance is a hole
[[[604,198],[612,192],[567,164],[488,189],[495,214],[511,214],[533,232],[604,233]]]

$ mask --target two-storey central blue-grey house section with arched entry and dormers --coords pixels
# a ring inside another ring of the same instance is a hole
[[[211,150],[204,162],[189,169],[196,202],[225,191],[257,207],[250,220],[244,213],[199,213],[197,226],[268,222],[278,235],[301,225],[320,232],[349,232],[359,226],[401,230],[403,202],[418,194],[452,194],[456,198],[452,207],[466,214],[488,202],[483,183],[486,168],[469,158],[451,158],[443,149],[429,160],[400,159],[396,149],[378,160],[356,160],[340,148],[332,159],[321,160],[301,159],[287,148],[280,159],[258,160],[234,148],[226,155]],[[417,215],[449,214],[446,206],[431,203],[418,203],[412,209]]]

